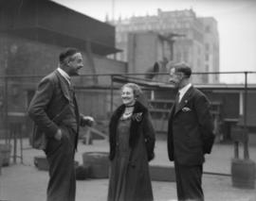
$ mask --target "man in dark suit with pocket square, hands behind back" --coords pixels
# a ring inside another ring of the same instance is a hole
[[[170,82],[178,90],[168,124],[168,155],[174,161],[178,200],[203,201],[204,155],[214,142],[210,102],[190,82],[191,68],[177,63],[171,68]]]

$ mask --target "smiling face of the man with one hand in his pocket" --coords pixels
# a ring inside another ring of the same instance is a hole
[[[76,53],[66,59],[66,73],[70,76],[79,75],[79,70],[83,67],[82,54]]]

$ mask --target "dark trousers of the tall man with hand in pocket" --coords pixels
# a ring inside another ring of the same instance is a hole
[[[75,137],[72,128],[62,127],[63,138],[49,139],[46,158],[49,163],[47,201],[75,201],[76,176],[74,166]]]

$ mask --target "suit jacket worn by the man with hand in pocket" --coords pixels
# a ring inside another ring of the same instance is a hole
[[[34,121],[32,138],[34,148],[46,149],[47,139],[54,137],[65,112],[70,109],[69,103],[71,101],[67,81],[57,70],[41,80],[28,107],[28,115]],[[75,97],[73,101],[77,111],[76,119],[79,124],[80,114]],[[76,142],[77,138],[78,136]]]

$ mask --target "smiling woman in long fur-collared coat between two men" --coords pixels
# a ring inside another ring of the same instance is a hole
[[[136,84],[125,84],[123,104],[110,120],[108,201],[153,200],[149,161],[154,159],[155,131],[148,109],[137,101],[140,94]]]

